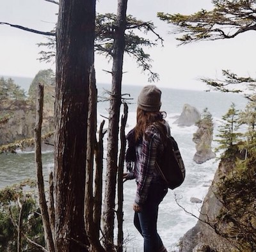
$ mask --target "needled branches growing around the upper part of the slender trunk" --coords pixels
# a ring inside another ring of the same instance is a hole
[[[99,14],[95,19],[95,52],[105,56],[108,60],[113,57],[113,42],[115,39],[116,15],[113,13]],[[154,31],[156,28],[152,22],[137,20],[131,15],[127,16],[127,26],[125,29],[125,53],[136,60],[141,71],[148,73],[148,80],[155,81],[159,75],[152,71],[152,59],[145,52],[145,48],[155,47],[157,41],[163,39]],[[155,41],[143,38],[139,34],[153,33]],[[49,48],[48,52],[40,52],[42,61],[50,61],[56,55],[56,40],[49,37],[47,43],[40,43],[40,46]]]

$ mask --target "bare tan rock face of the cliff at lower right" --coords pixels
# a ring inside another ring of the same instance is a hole
[[[200,216],[196,225],[180,240],[180,252],[223,252],[237,251],[236,243],[218,235],[214,228],[216,217],[223,205],[216,196],[216,189],[221,177],[234,170],[234,160],[221,161],[214,175],[212,184],[204,198]],[[210,226],[208,223],[211,223]]]

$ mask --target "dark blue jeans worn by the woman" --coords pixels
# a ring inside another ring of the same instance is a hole
[[[163,242],[157,233],[158,206],[168,189],[163,184],[150,184],[141,212],[134,213],[134,226],[144,239],[144,252],[157,252]]]

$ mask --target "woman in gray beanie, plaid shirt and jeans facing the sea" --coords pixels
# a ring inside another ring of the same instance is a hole
[[[167,193],[167,186],[155,167],[164,149],[164,137],[170,127],[163,119],[161,91],[156,85],[143,87],[138,96],[137,123],[127,135],[124,179],[136,179],[137,192],[133,204],[134,225],[144,239],[144,252],[164,252],[157,233],[158,206]],[[166,251],[167,252],[167,251]]]

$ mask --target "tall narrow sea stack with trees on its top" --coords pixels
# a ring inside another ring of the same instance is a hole
[[[198,130],[193,135],[193,142],[196,144],[196,153],[193,160],[201,164],[216,157],[211,146],[213,135],[212,115],[207,108],[202,113],[202,119],[196,122],[196,126],[198,126]]]

